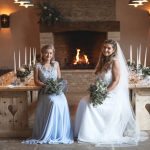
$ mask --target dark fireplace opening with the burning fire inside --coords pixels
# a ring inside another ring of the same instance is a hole
[[[62,69],[94,69],[106,32],[68,31],[54,33],[56,59]]]

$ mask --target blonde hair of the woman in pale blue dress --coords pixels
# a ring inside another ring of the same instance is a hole
[[[53,50],[53,58],[51,59],[50,61],[50,64],[53,64],[54,60],[55,60],[55,48],[54,48],[54,45],[44,45],[42,48],[41,48],[41,62],[43,63],[44,62],[44,58],[43,58],[43,54],[49,50],[49,49],[52,49]]]

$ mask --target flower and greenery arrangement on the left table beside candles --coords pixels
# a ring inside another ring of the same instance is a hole
[[[17,69],[16,76],[17,78],[25,78],[31,73],[28,66],[22,66],[19,69]]]

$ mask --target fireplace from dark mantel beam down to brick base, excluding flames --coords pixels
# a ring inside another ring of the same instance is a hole
[[[108,24],[110,25],[110,22]],[[88,87],[94,82],[94,68],[102,42],[108,38],[118,41],[120,39],[120,26],[119,22],[116,21],[112,23],[111,27],[106,24],[102,26],[100,23],[89,28],[86,26],[81,28],[79,25],[76,28],[62,27],[56,25],[55,27],[41,28],[40,41],[41,47],[49,43],[55,46],[55,58],[59,61],[62,77],[68,81],[66,96],[71,118],[74,121],[79,100],[88,94]],[[87,55],[89,64],[73,65],[77,49],[80,49],[81,56]]]

